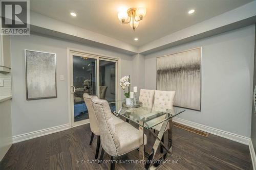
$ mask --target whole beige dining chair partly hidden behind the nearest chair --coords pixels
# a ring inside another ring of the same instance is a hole
[[[86,103],[86,107],[87,107],[88,113],[89,113],[90,128],[92,131],[90,145],[93,142],[94,135],[97,136],[97,147],[96,147],[96,153],[95,153],[95,159],[97,159],[98,154],[99,154],[99,148],[100,148],[100,129],[99,129],[99,124],[98,124],[95,110],[93,109],[92,100],[91,100],[92,97],[98,98],[97,96],[89,95],[88,93],[83,94],[83,99],[84,99],[84,102]],[[124,123],[124,121],[122,119],[118,118],[114,114],[111,114],[111,117],[112,117],[113,123],[115,125]]]

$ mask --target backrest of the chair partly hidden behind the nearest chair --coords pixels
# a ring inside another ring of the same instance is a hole
[[[86,107],[87,107],[88,113],[89,113],[91,131],[95,135],[99,136],[100,135],[99,124],[98,124],[98,120],[96,117],[96,113],[93,108],[92,97],[93,97],[93,95],[89,95],[88,93],[83,93],[83,100],[86,103]],[[95,96],[95,97],[98,98],[97,96]]]

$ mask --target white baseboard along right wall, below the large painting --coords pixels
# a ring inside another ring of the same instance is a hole
[[[217,135],[217,136],[220,136],[220,137],[224,137],[224,138],[229,139],[229,140],[237,141],[239,143],[243,143],[243,144],[246,144],[246,145],[249,145],[249,143],[250,143],[250,138],[249,137],[237,135],[237,134],[226,132],[226,131],[216,129],[216,128],[211,128],[211,127],[201,125],[201,124],[197,124],[197,123],[194,123],[194,122],[190,122],[188,120],[184,120],[184,119],[181,119],[181,118],[178,118],[178,117],[174,117],[173,121],[177,122],[177,123],[180,123],[180,124],[183,124],[183,125],[186,125],[186,126],[189,126],[191,128],[195,128],[195,129],[198,129],[198,130],[201,130],[201,131],[204,131],[204,132],[208,132],[210,134],[214,134],[214,135]]]

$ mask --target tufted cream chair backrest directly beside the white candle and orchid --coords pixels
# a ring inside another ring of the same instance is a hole
[[[152,108],[155,90],[140,89],[139,101],[143,107]]]

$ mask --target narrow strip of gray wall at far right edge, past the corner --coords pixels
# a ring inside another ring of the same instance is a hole
[[[256,28],[255,28],[256,33]],[[255,41],[256,42],[256,35]],[[254,75],[253,75],[253,89],[256,87],[256,44],[254,44]],[[256,152],[256,110],[254,108],[254,102],[252,102],[252,114],[251,114],[251,141]]]

